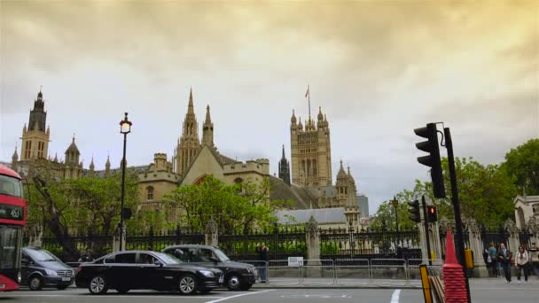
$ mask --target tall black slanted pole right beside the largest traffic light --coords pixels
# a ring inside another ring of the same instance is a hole
[[[449,177],[451,179],[451,202],[453,203],[453,209],[455,210],[455,228],[457,229],[455,234],[457,237],[455,248],[457,248],[458,263],[462,265],[462,270],[465,274],[466,296],[468,297],[468,302],[472,302],[470,296],[470,284],[468,283],[468,275],[465,269],[465,242],[462,230],[462,218],[460,217],[460,204],[458,203],[457,171],[455,169],[455,158],[453,156],[453,141],[451,140],[449,128],[443,128],[443,133],[445,135],[445,147],[448,150]]]

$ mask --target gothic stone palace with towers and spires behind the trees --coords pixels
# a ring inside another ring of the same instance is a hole
[[[63,178],[78,178],[83,175],[108,175],[121,171],[111,168],[106,160],[105,170],[95,170],[93,158],[88,168],[80,161],[81,152],[73,137],[65,151],[65,159],[51,158],[49,142],[51,128],[46,126],[47,112],[43,93],[40,90],[30,111],[28,124],[22,128],[20,155],[18,148],[12,156],[11,166],[20,175],[32,175],[36,162],[44,161],[53,175]],[[357,189],[350,169],[345,171],[340,161],[337,180],[332,182],[332,148],[329,122],[320,108],[316,120],[309,117],[301,123],[301,117],[292,114],[290,123],[291,158],[282,158],[278,163],[278,177],[269,174],[269,159],[252,159],[241,162],[226,157],[217,151],[214,144],[214,123],[210,108],[202,123],[199,137],[199,122],[194,113],[192,90],[189,94],[183,132],[170,159],[166,153],[154,154],[153,163],[145,166],[128,167],[138,175],[139,197],[143,207],[160,207],[163,196],[177,186],[200,183],[206,175],[214,175],[224,183],[261,182],[269,179],[269,199],[293,200],[293,209],[324,209],[339,207],[346,223],[359,226],[360,209]],[[292,175],[292,178],[291,178]]]

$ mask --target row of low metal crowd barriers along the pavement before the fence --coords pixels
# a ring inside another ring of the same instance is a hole
[[[421,287],[420,259],[269,260],[241,262],[258,268],[259,281],[276,286],[414,286]],[[433,260],[429,272],[440,276],[442,260]]]

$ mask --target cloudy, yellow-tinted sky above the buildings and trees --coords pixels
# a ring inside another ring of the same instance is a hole
[[[118,167],[128,112],[129,165],[170,158],[192,88],[219,151],[273,174],[308,85],[333,181],[342,159],[372,214],[429,178],[414,128],[444,122],[483,164],[539,137],[539,2],[0,0],[2,161],[41,86],[52,157],[75,136],[85,167]]]

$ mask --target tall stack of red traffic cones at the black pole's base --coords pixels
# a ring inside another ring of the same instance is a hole
[[[445,263],[443,264],[443,284],[446,303],[468,303],[466,293],[465,273],[462,265],[457,262],[455,244],[451,229],[448,229],[445,250]]]

